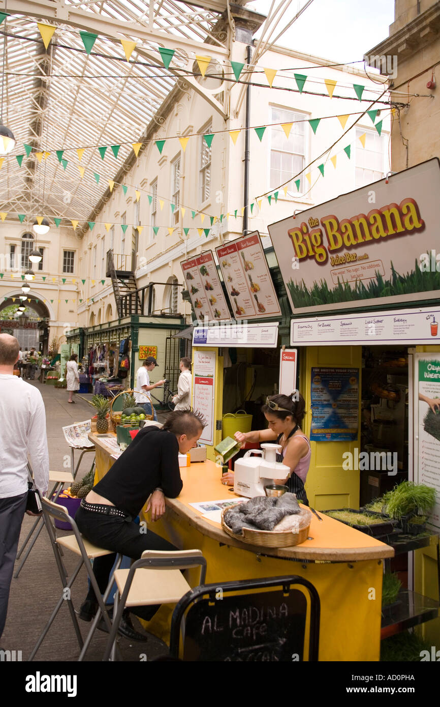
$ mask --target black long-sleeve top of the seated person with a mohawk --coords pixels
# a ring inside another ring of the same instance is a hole
[[[168,498],[179,496],[183,484],[178,454],[172,432],[144,427],[93,491],[135,518],[158,487]]]

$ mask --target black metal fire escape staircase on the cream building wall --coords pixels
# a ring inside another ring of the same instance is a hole
[[[107,250],[105,275],[112,279],[118,317],[141,314],[141,299],[139,298],[138,284],[133,270],[133,254],[121,255],[120,253],[114,253],[113,250]]]

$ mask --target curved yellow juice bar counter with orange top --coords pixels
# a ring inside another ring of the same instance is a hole
[[[113,460],[105,449],[105,438],[90,438],[100,449],[100,479]],[[182,467],[180,473],[182,493],[179,498],[166,499],[165,515],[149,527],[179,549],[201,549],[208,565],[207,583],[221,587],[222,582],[232,580],[302,576],[315,586],[321,602],[319,660],[379,660],[383,559],[394,555],[391,547],[322,513],[322,522],[313,516],[310,539],[301,545],[268,548],[244,544],[189,505],[235,497],[221,483],[220,468],[208,460]],[[149,522],[148,516],[143,518]],[[191,572],[194,582],[189,575],[190,584],[194,584],[198,575]],[[145,624],[165,641],[172,609],[161,607]]]

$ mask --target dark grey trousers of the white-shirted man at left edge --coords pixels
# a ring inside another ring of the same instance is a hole
[[[28,493],[0,498],[0,638],[6,624],[9,588]]]

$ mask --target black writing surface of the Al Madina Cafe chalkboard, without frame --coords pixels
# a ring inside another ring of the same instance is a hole
[[[303,660],[307,599],[290,589],[201,599],[186,614],[184,660]]]

